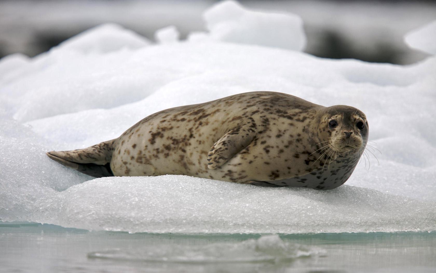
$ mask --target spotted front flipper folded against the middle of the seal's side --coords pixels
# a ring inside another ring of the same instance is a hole
[[[244,124],[228,131],[211,147],[208,168],[216,169],[247,147],[256,135],[252,124]]]

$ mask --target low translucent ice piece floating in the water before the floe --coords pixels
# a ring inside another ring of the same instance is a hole
[[[279,235],[264,235],[243,242],[212,243],[207,245],[153,245],[136,249],[110,249],[91,252],[89,258],[116,259],[141,262],[167,263],[258,263],[292,260],[324,253],[283,241]]]

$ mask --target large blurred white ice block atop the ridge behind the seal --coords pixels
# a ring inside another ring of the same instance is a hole
[[[296,51],[306,45],[303,21],[295,14],[251,11],[225,0],[206,10],[203,17],[215,40]]]

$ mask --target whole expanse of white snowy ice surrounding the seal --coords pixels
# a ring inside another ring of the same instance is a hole
[[[241,24],[255,32],[256,24]],[[102,37],[118,38],[96,46]],[[138,47],[146,40],[132,37],[118,26],[99,27],[35,58],[0,60],[0,220],[127,232],[436,230],[435,56],[395,66],[320,59],[251,40]],[[255,90],[357,107],[374,148],[345,185],[329,191],[189,176],[92,179],[45,156],[116,138],[156,111]]]

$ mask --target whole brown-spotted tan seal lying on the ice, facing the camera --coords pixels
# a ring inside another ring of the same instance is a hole
[[[250,92],[163,110],[119,138],[47,155],[94,177],[178,174],[329,190],[351,176],[368,132],[354,107]]]

